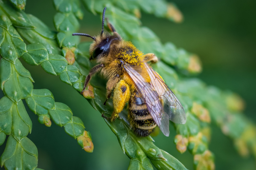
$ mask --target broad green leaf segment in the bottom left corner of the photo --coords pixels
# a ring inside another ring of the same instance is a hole
[[[8,137],[6,148],[1,156],[1,166],[9,169],[34,169],[38,164],[38,150],[27,137],[17,141]]]

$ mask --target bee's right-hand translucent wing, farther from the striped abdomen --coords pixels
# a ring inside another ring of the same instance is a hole
[[[163,109],[169,115],[169,119],[178,124],[185,124],[186,113],[180,101],[172,93],[157,72],[155,72],[147,63],[145,63],[145,65],[151,79],[151,85],[154,87],[158,96],[163,100]]]

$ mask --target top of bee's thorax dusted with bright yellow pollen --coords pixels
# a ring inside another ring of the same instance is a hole
[[[119,49],[117,58],[123,59],[131,65],[143,65],[143,53],[139,51],[131,42]]]

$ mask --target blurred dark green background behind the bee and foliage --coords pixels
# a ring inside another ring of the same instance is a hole
[[[256,1],[253,0],[174,0],[184,15],[181,24],[142,13],[142,24],[151,28],[162,42],[173,42],[177,47],[198,54],[203,63],[203,72],[198,76],[208,85],[238,93],[246,102],[244,113],[256,122]],[[27,0],[26,13],[33,14],[52,30],[56,13],[52,0]],[[84,10],[81,32],[97,34],[101,29],[100,16]],[[82,41],[90,41],[83,38]],[[52,124],[41,125],[32,111],[32,133],[28,135],[38,148],[38,167],[45,170],[122,170],[127,169],[128,157],[122,153],[116,136],[101,114],[93,110],[86,99],[58,77],[47,74],[40,66],[23,62],[35,80],[34,88],[49,89],[56,102],[67,104],[84,122],[85,130],[93,138],[94,151],[86,153],[77,141],[64,129]],[[3,93],[0,93],[0,97]],[[26,105],[26,103],[24,103]],[[188,169],[193,169],[193,157],[186,151],[177,152],[173,142],[175,131],[170,127],[170,136],[154,137],[155,144],[180,160]],[[5,144],[0,147],[3,153]],[[209,149],[215,154],[216,170],[253,170],[255,158],[241,158],[232,141],[212,125]]]

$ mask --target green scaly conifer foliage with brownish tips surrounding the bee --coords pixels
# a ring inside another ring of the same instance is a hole
[[[201,72],[198,56],[176,48],[171,42],[161,43],[153,31],[141,26],[141,11],[181,22],[183,16],[175,4],[165,0],[53,2],[56,9],[55,16],[52,16],[55,31],[37,17],[24,12],[26,0],[0,0],[0,88],[4,93],[0,99],[0,145],[7,140],[0,157],[1,167],[6,170],[39,170],[37,147],[26,137],[32,131],[32,121],[23,102],[38,115],[39,123],[50,127],[53,122],[64,127],[65,132],[77,139],[85,151],[93,152],[92,137],[84,130],[82,120],[73,116],[64,103],[55,102],[49,90],[34,89],[31,74],[20,62],[24,60],[29,65],[41,65],[48,74],[59,76],[62,82],[81,92],[85,76],[92,68],[88,62],[90,43],[80,42],[78,36],[72,36],[78,31],[79,20],[83,18],[82,5],[95,15],[102,15],[106,6],[106,17],[125,40],[131,41],[144,54],[154,53],[160,58],[160,62],[153,65],[154,70],[166,80],[186,111],[186,124],[173,124],[177,132],[174,142],[180,153],[189,150],[194,156],[196,170],[215,169],[214,154],[208,148],[210,123],[233,139],[242,156],[248,155],[249,150],[256,155],[256,128],[240,113],[243,100],[232,92],[221,91],[207,86],[200,79],[191,78],[191,75]],[[91,95],[85,96],[94,109],[99,113],[112,113],[113,106],[103,105],[105,84],[93,79],[86,90],[94,93],[93,99]],[[123,153],[131,159],[129,170],[153,170],[153,166],[159,170],[186,170],[179,160],[155,146],[150,136],[135,136],[129,128],[126,111],[115,122],[106,119],[105,122],[116,135]]]

